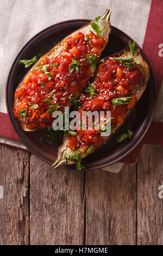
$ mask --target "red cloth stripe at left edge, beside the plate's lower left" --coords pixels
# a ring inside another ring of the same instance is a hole
[[[0,136],[20,141],[11,125],[8,114],[0,112]]]

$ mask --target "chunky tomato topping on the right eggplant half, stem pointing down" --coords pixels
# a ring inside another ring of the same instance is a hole
[[[95,82],[92,83],[93,95],[83,93],[80,96],[82,101],[79,107],[80,118],[82,120],[83,111],[111,111],[111,126],[116,129],[118,123],[123,123],[124,115],[128,109],[134,107],[136,99],[134,97],[134,89],[136,90],[143,82],[141,68],[133,65],[128,69],[119,61],[108,58],[105,63],[99,65],[98,75]],[[112,99],[131,97],[128,103],[114,106]],[[105,118],[106,121],[106,118]],[[87,120],[85,120],[87,127]],[[104,137],[101,136],[101,127],[95,130],[77,130],[76,136],[69,136],[67,147],[74,149],[82,149],[86,152],[91,146],[98,147],[104,143]]]

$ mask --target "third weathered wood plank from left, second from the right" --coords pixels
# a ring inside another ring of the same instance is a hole
[[[86,173],[86,245],[135,245],[136,167]]]

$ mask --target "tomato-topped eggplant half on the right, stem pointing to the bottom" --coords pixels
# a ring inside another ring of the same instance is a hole
[[[101,60],[93,83],[89,84],[80,96],[81,105],[78,111],[80,115],[83,111],[110,111],[111,117],[109,119],[104,117],[104,125],[102,127],[98,125],[96,129],[95,120],[91,130],[87,129],[86,118],[84,121],[86,130],[65,134],[63,144],[59,148],[58,159],[53,164],[54,168],[65,162],[67,164],[77,162],[77,169],[84,168],[81,160],[108,141],[139,101],[147,86],[149,68],[140,50],[134,50],[134,47],[135,42],[133,44],[129,42],[129,47]],[[101,136],[109,122],[110,134]],[[128,131],[126,137],[131,135],[132,132]]]

